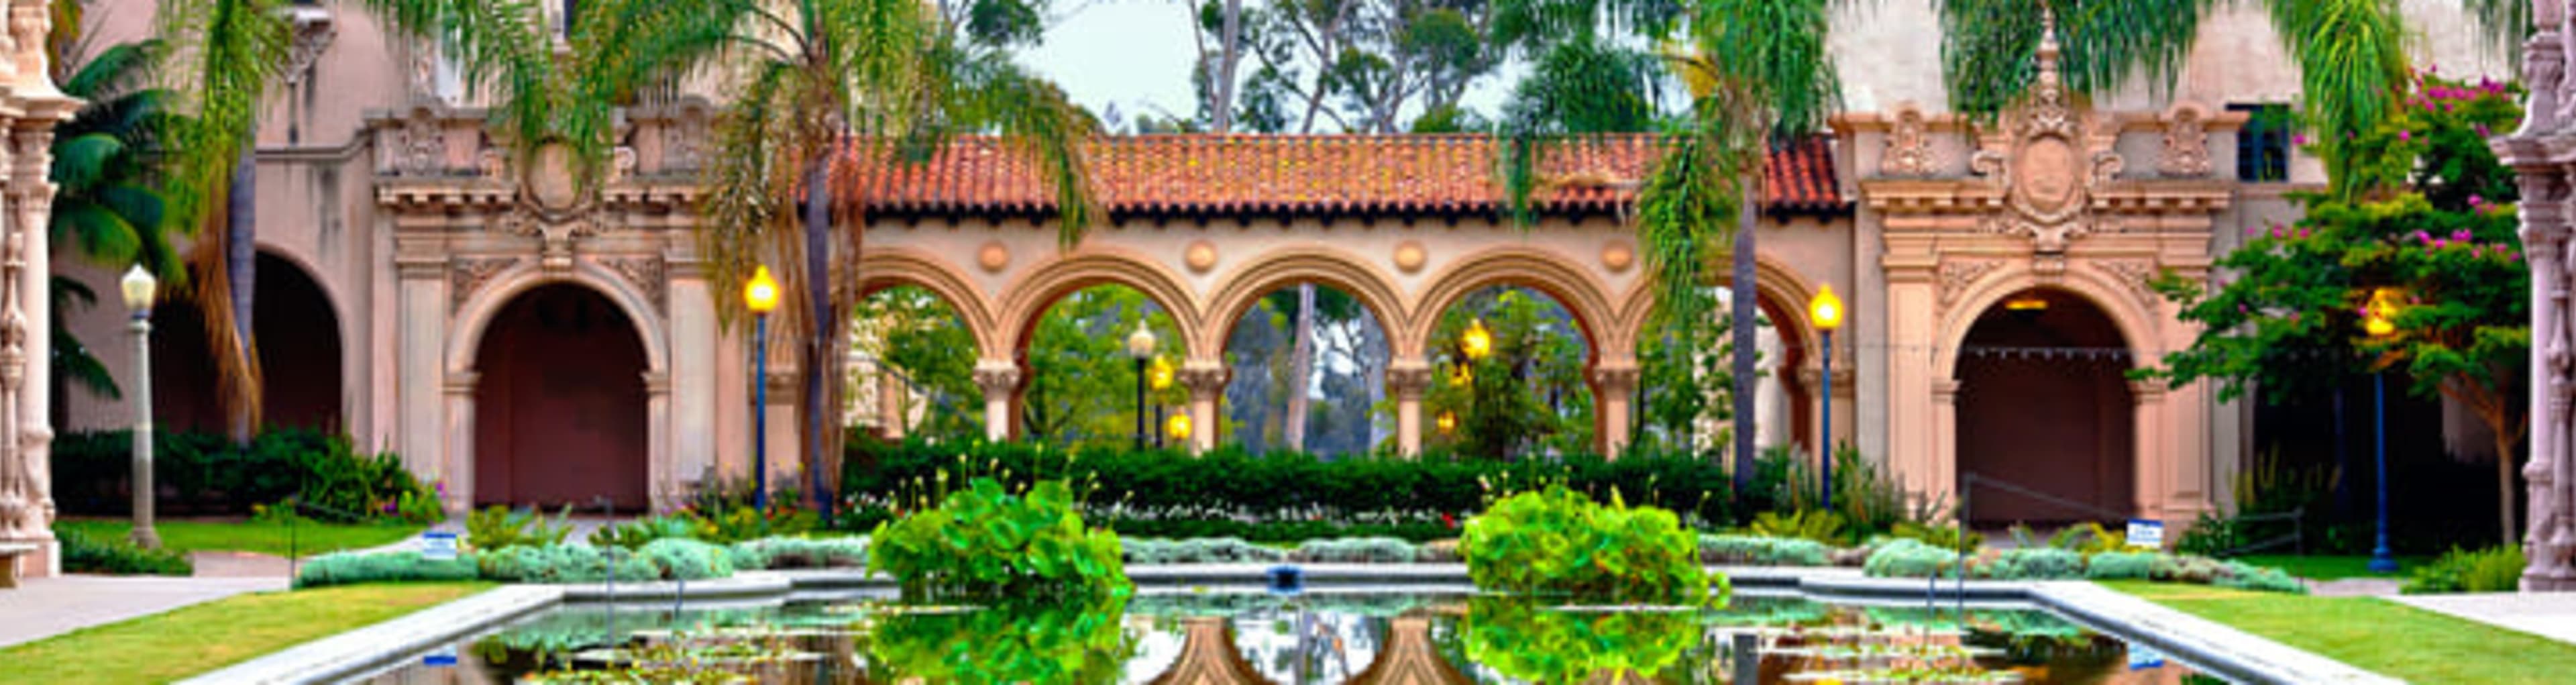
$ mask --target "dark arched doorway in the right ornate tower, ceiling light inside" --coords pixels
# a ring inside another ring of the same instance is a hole
[[[2110,314],[2066,291],[2020,291],[1978,314],[1958,355],[1958,471],[1973,523],[2136,512],[2130,350]]]

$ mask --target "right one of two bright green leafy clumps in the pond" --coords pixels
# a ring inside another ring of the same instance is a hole
[[[1698,538],[1656,507],[1610,505],[1566,487],[1520,492],[1466,523],[1458,556],[1481,590],[1615,603],[1705,603]],[[1723,597],[1723,577],[1718,577]]]

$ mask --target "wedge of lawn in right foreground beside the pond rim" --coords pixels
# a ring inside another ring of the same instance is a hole
[[[2566,682],[2576,644],[2380,600],[2102,582],[2326,659],[2409,682]]]

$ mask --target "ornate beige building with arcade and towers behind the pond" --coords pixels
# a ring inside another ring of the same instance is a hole
[[[2419,59],[2494,70],[2452,5],[2406,3],[2427,33]],[[93,41],[144,36],[149,13],[103,3]],[[353,5],[296,13],[296,64],[258,149],[252,319],[273,417],[402,453],[446,482],[451,507],[662,507],[750,469],[760,381],[773,464],[793,471],[793,368],[755,379],[747,330],[719,322],[714,301],[739,283],[714,283],[696,245],[696,173],[719,93],[623,111],[611,178],[577,188],[559,155],[513,167],[474,95],[425,46],[389,39]],[[1924,26],[1937,26],[1924,0],[1855,3],[1834,44],[1850,113],[1765,167],[1759,291],[1783,342],[1765,373],[1790,399],[1783,425],[1816,446],[1832,402],[1832,440],[1919,494],[1994,482],[1973,492],[1986,520],[2190,520],[2223,507],[2249,412],[2205,386],[2120,371],[2195,335],[2148,278],[2221,278],[2215,255],[2249,227],[2290,219],[2282,193],[2321,180],[2282,131],[2257,126],[2298,88],[2269,23],[2249,8],[2208,21],[2174,88],[2079,98],[2048,67],[2032,98],[1991,124],[1947,111]],[[1597,435],[1610,435],[1600,448],[1620,451],[1651,306],[1628,198],[1651,142],[1551,157],[1535,227],[1499,219],[1492,142],[1476,136],[1136,136],[1103,139],[1092,157],[1110,214],[1072,247],[1056,242],[1030,170],[974,139],[853,185],[876,209],[863,278],[958,309],[989,435],[1012,435],[1007,415],[1028,384],[1020,350],[1064,294],[1126,283],[1170,312],[1180,384],[1208,427],[1234,319],[1278,286],[1324,283],[1386,327],[1386,397],[1399,446],[1414,451],[1440,309],[1481,286],[1530,286],[1587,337]],[[28,273],[41,273],[46,258],[33,255]],[[93,286],[116,273],[54,265]],[[1852,312],[1832,337],[1832,399],[1819,397],[1821,335],[1801,314],[1824,286]],[[113,340],[121,317],[75,312],[72,327]],[[185,317],[157,314],[157,417],[211,425],[211,376],[191,363],[204,342],[188,340]],[[121,379],[134,366],[103,361]],[[77,391],[62,412],[36,407],[67,430],[131,422],[129,407]]]

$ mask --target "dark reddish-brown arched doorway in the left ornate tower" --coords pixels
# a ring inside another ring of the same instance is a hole
[[[598,291],[538,286],[492,314],[474,355],[474,502],[649,505],[644,342]]]

